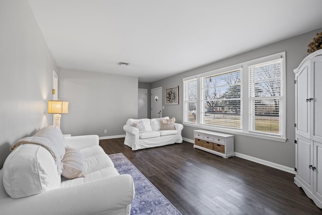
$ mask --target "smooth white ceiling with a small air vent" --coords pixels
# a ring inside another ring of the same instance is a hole
[[[321,0],[27,1],[57,66],[140,82],[322,27]]]

